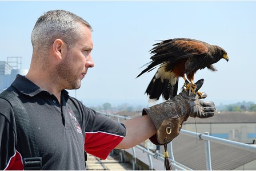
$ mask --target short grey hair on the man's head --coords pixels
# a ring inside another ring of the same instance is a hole
[[[62,39],[70,48],[79,38],[79,25],[93,31],[90,24],[77,15],[65,10],[52,10],[38,18],[31,34],[34,50],[47,50],[55,39]]]

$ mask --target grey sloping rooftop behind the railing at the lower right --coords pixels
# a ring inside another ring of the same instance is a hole
[[[233,170],[256,160],[256,153],[211,141],[211,165],[213,170]],[[193,170],[206,170],[205,141],[180,134],[173,140],[175,161]]]

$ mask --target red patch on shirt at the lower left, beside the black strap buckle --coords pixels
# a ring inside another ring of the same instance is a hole
[[[19,152],[15,152],[4,170],[23,170],[22,157]]]

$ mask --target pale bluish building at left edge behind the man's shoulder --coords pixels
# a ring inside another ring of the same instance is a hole
[[[0,93],[13,83],[17,74],[26,75],[28,72],[28,70],[21,69],[21,57],[9,57],[8,59],[12,60],[0,61]]]

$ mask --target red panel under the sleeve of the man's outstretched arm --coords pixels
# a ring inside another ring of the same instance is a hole
[[[85,151],[93,156],[106,159],[111,150],[113,150],[123,138],[123,136],[106,132],[86,132]]]

